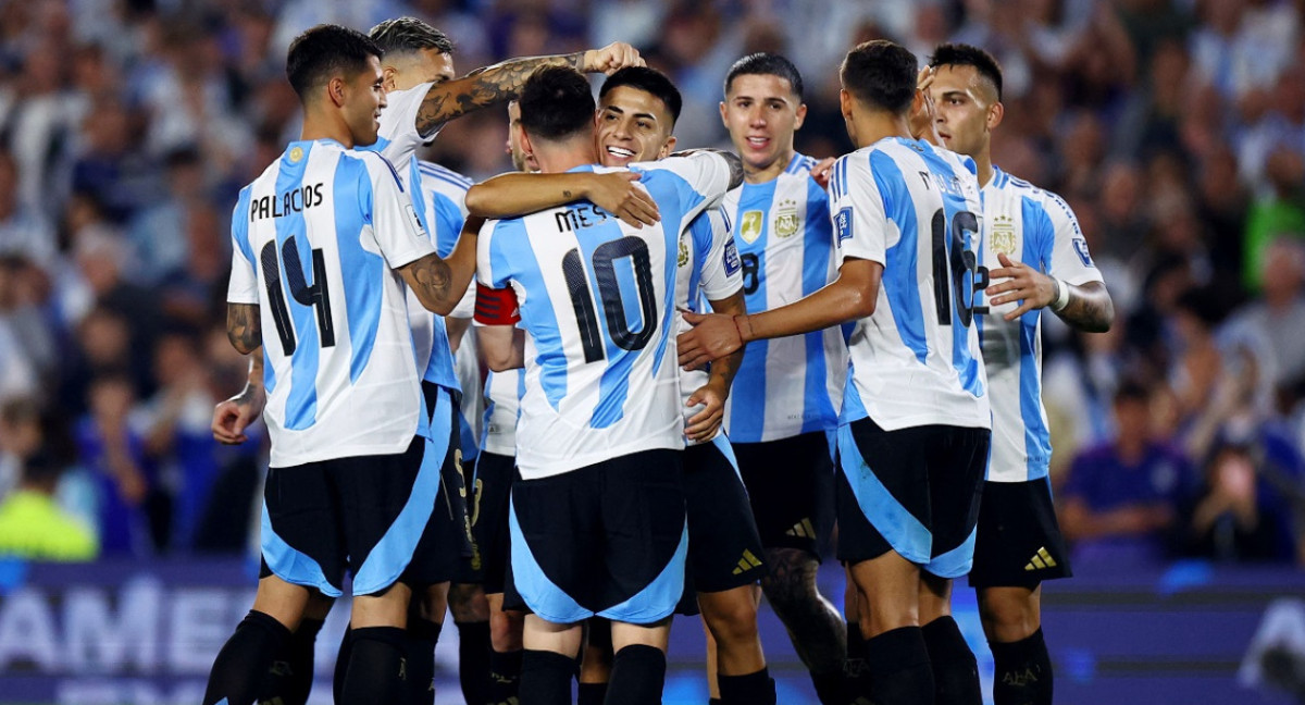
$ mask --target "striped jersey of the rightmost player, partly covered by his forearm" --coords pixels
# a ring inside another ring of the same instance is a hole
[[[1071,285],[1103,281],[1078,219],[1060,196],[997,167],[980,195],[980,265],[1000,268],[997,255],[1001,253]],[[1017,302],[1010,302],[979,319],[992,400],[988,479],[993,482],[1041,479],[1052,458],[1051,431],[1043,407],[1043,311],[1034,309],[1007,322],[1004,316],[1015,308]]]

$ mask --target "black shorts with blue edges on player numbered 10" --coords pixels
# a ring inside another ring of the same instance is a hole
[[[679,450],[643,450],[512,486],[504,607],[553,624],[652,624],[684,593],[688,527]]]

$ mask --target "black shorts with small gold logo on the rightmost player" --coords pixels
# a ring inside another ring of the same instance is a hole
[[[985,482],[970,585],[1032,589],[1073,574],[1048,478]]]

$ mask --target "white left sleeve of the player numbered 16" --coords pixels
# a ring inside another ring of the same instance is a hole
[[[838,265],[848,257],[885,264],[889,228],[883,197],[864,153],[853,151],[834,162],[829,180],[829,212],[834,221]]]

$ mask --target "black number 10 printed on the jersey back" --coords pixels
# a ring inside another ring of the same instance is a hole
[[[625,302],[621,300],[621,283],[616,278],[616,260],[629,257],[634,270],[634,283],[639,299],[638,330],[630,330],[625,317]],[[652,339],[656,328],[656,290],[652,286],[652,262],[649,245],[633,236],[624,236],[598,245],[594,249],[594,283],[598,285],[598,299],[603,304],[603,319],[607,333],[621,350],[643,350]],[[562,256],[562,275],[566,278],[566,291],[570,294],[579,324],[581,347],[585,362],[598,362],[604,358],[602,333],[598,329],[598,315],[594,311],[594,296],[590,294],[589,278],[585,275],[585,262],[579,248]]]

